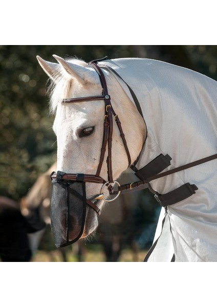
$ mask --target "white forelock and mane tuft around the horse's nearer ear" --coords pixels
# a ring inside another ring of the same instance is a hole
[[[82,67],[89,67],[82,59],[75,57],[64,58],[66,61],[75,63]],[[50,112],[55,113],[58,103],[65,97],[67,97],[70,87],[72,85],[72,78],[70,75],[66,74],[62,66],[59,64],[56,69],[53,79],[51,79],[51,84],[48,87],[48,95],[50,97]]]

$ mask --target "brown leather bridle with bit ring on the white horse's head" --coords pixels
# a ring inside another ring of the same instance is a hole
[[[104,60],[104,59],[105,58],[103,58],[101,60]],[[128,159],[128,166],[131,166],[131,156],[129,154],[129,150],[128,150],[128,147],[127,147],[127,144],[126,144],[126,139],[125,139],[122,127],[121,127],[121,122],[118,118],[118,115],[115,113],[115,111],[112,107],[111,97],[108,94],[105,76],[104,76],[102,70],[100,69],[100,67],[96,63],[98,61],[100,61],[100,60],[91,61],[91,62],[89,62],[89,64],[98,73],[100,83],[101,83],[101,86],[102,86],[102,95],[101,96],[88,96],[88,97],[63,99],[62,102],[63,103],[74,103],[74,102],[84,102],[84,101],[93,101],[93,100],[104,100],[104,103],[105,103],[105,112],[104,112],[104,118],[103,118],[104,129],[103,129],[103,140],[102,140],[102,147],[101,147],[101,155],[100,155],[99,165],[98,165],[98,168],[97,168],[95,175],[93,175],[93,174],[67,173],[67,174],[64,174],[62,178],[66,179],[66,180],[70,180],[70,181],[79,181],[79,179],[82,178],[82,181],[84,181],[84,182],[100,183],[100,184],[103,184],[103,187],[107,186],[108,191],[110,193],[112,193],[113,192],[113,186],[111,184],[114,183],[114,182],[117,183],[117,181],[113,180],[113,172],[112,172],[113,116],[115,118],[115,122],[118,126],[118,129],[120,131],[120,136],[122,138],[122,141],[123,141],[123,144],[124,144],[124,147],[125,147],[125,151],[126,151],[126,155],[127,155],[127,159]],[[103,164],[103,161],[104,161],[106,146],[108,146],[108,156],[107,156],[107,159],[106,159],[107,176],[108,176],[107,182],[100,177],[100,172],[101,172],[102,164]],[[56,178],[56,173],[53,172],[51,174],[51,179],[55,179],[55,178]],[[117,183],[117,184],[119,185],[119,183]],[[104,194],[102,193],[102,188],[101,188],[101,191],[100,191],[101,196],[99,195],[97,199],[101,198],[104,201],[113,201],[120,194],[120,192],[119,192],[113,200],[107,200],[107,199],[103,198]],[[97,213],[99,213],[99,208],[95,204],[93,204],[89,200],[86,200],[86,203],[88,205],[90,205],[95,211],[97,211]]]

